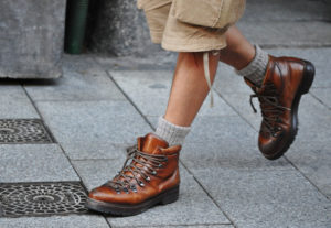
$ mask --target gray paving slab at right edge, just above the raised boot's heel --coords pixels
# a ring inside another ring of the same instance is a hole
[[[323,21],[244,21],[237,26],[248,41],[265,47],[330,46],[330,23]],[[260,35],[264,34],[264,35]]]

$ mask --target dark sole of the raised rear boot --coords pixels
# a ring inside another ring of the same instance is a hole
[[[300,104],[300,99],[301,96],[309,93],[309,89],[312,85],[313,78],[314,78],[314,66],[312,65],[312,63],[308,62],[308,61],[303,61],[305,62],[305,68],[303,68],[303,76],[302,76],[302,80],[301,84],[299,86],[299,89],[297,91],[297,95],[293,99],[292,102],[292,107],[291,107],[291,116],[292,116],[292,124],[291,124],[291,129],[290,129],[290,137],[288,138],[287,142],[284,144],[284,146],[277,151],[275,154],[264,154],[266,159],[268,160],[277,160],[280,156],[282,156],[285,154],[285,152],[287,152],[287,150],[290,148],[290,145],[292,144],[292,142],[296,139],[296,135],[298,133],[298,126],[299,126],[299,119],[298,119],[298,110],[299,110],[299,104]]]

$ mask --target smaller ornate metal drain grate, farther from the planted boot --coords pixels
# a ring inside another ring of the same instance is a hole
[[[0,143],[52,143],[39,119],[0,119]]]

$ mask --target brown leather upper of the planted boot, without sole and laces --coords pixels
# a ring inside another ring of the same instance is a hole
[[[138,166],[142,170],[143,174],[147,174],[149,181],[146,176],[141,176],[136,173],[139,182],[131,178],[129,184],[127,184],[127,192],[124,189],[118,191],[116,184],[109,185],[105,184],[100,187],[93,189],[88,197],[95,200],[114,203],[114,204],[129,204],[135,205],[151,198],[163,191],[175,187],[180,184],[180,173],[179,173],[179,152],[181,150],[180,145],[168,146],[168,143],[158,138],[156,134],[149,133],[145,138],[138,138],[137,149],[146,154],[151,155],[162,155],[166,161],[161,162],[161,165],[156,167],[153,165],[141,165],[138,162],[131,161],[131,166]],[[143,158],[137,158],[139,161],[146,160]],[[132,163],[134,162],[134,163]],[[146,162],[146,161],[145,161]],[[151,170],[156,171],[156,174],[150,174]],[[126,175],[132,176],[134,173],[130,171],[125,172]],[[115,176],[113,181],[125,181],[122,176]],[[136,192],[130,189],[130,186],[135,186]],[[120,187],[119,187],[120,188]]]

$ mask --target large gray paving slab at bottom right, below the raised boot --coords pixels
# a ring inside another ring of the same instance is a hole
[[[238,228],[331,225],[331,202],[296,170],[192,171]]]

